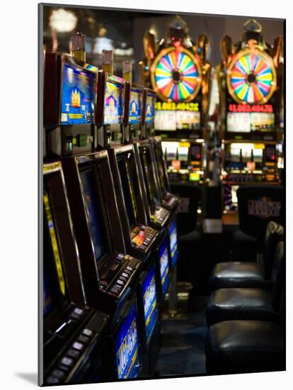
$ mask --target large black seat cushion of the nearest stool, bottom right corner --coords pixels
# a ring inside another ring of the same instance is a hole
[[[285,370],[285,330],[270,321],[224,321],[209,328],[207,374]]]

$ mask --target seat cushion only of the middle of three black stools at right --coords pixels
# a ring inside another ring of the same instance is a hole
[[[272,293],[265,289],[218,289],[207,304],[207,325],[230,320],[277,321]]]

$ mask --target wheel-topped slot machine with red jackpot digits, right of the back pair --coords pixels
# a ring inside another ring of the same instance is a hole
[[[282,38],[265,42],[262,26],[244,23],[243,37],[221,40],[217,67],[221,106],[224,212],[237,209],[236,189],[279,184],[277,145],[282,101]]]

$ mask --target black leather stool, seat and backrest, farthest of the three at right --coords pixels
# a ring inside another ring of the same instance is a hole
[[[265,232],[263,264],[257,262],[221,262],[214,266],[209,278],[209,291],[222,288],[265,287],[272,276],[272,262],[277,243],[284,238],[284,228],[274,221]]]

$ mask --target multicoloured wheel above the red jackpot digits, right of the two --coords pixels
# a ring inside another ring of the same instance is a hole
[[[276,85],[275,65],[265,52],[245,49],[232,58],[227,69],[227,87],[237,103],[265,104]]]

